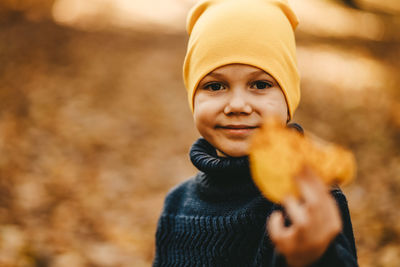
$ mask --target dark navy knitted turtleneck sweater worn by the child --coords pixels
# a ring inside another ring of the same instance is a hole
[[[211,144],[199,139],[190,158],[200,172],[168,193],[153,266],[286,266],[266,231],[270,214],[282,208],[256,188],[247,157],[218,157]],[[331,193],[343,231],[312,266],[358,266],[346,198],[340,189]]]

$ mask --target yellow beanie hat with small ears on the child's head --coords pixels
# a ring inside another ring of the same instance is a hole
[[[190,36],[183,79],[193,112],[199,82],[228,64],[247,64],[275,78],[293,117],[300,101],[294,30],[297,17],[287,0],[203,0],[189,12]]]

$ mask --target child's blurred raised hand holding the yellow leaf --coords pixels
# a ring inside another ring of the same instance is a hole
[[[335,200],[309,168],[296,177],[301,200],[288,197],[283,206],[292,225],[285,227],[281,212],[270,216],[268,231],[289,266],[303,267],[318,260],[342,230]]]

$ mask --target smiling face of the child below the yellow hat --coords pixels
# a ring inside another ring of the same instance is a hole
[[[276,80],[249,65],[215,69],[200,81],[194,96],[196,127],[222,156],[248,155],[250,137],[264,119],[274,116],[284,125],[287,114]]]

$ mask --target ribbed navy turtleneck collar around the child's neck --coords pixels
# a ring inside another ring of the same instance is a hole
[[[287,127],[303,133],[296,123]],[[190,159],[201,172],[196,177],[199,190],[207,195],[260,194],[250,174],[248,157],[219,157],[215,148],[199,138],[190,149]]]

